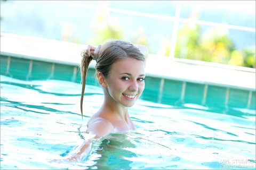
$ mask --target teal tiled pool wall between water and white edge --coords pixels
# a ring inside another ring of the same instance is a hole
[[[65,80],[81,82],[79,67],[1,55],[1,75],[21,80]],[[179,106],[197,104],[211,108],[255,110],[255,89],[237,89],[147,76],[143,100]],[[99,86],[95,70],[89,68],[86,84]],[[234,110],[233,110],[234,112]]]

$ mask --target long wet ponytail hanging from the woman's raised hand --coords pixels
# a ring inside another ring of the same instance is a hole
[[[83,99],[84,99],[86,76],[87,76],[87,71],[89,69],[89,64],[92,61],[92,57],[87,54],[86,49],[82,51],[81,56],[83,58],[82,58],[81,65],[80,65],[81,82],[82,82],[82,94],[81,94],[81,100],[80,100],[80,108],[81,108],[81,115],[82,115],[82,119],[83,119]]]

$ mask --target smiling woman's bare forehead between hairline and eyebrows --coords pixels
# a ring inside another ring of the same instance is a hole
[[[110,73],[131,73],[145,74],[145,65],[143,61],[135,58],[122,58],[117,60],[112,66]]]

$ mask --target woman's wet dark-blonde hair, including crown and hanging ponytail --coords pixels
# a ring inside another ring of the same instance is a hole
[[[91,56],[88,56],[86,50],[81,53],[82,62],[80,66],[81,81],[82,81],[82,94],[80,101],[81,114],[83,118],[83,98],[86,83],[86,75],[89,69],[89,64],[93,60]],[[111,65],[117,60],[122,58],[135,58],[140,61],[145,61],[145,57],[140,52],[138,47],[135,47],[131,43],[123,40],[112,40],[101,46],[99,57],[96,61],[95,70],[96,73],[101,72],[105,78],[108,78]]]

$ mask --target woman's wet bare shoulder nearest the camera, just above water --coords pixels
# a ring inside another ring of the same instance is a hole
[[[102,117],[92,117],[87,123],[87,132],[96,134],[98,137],[104,137],[114,131],[113,124]]]

